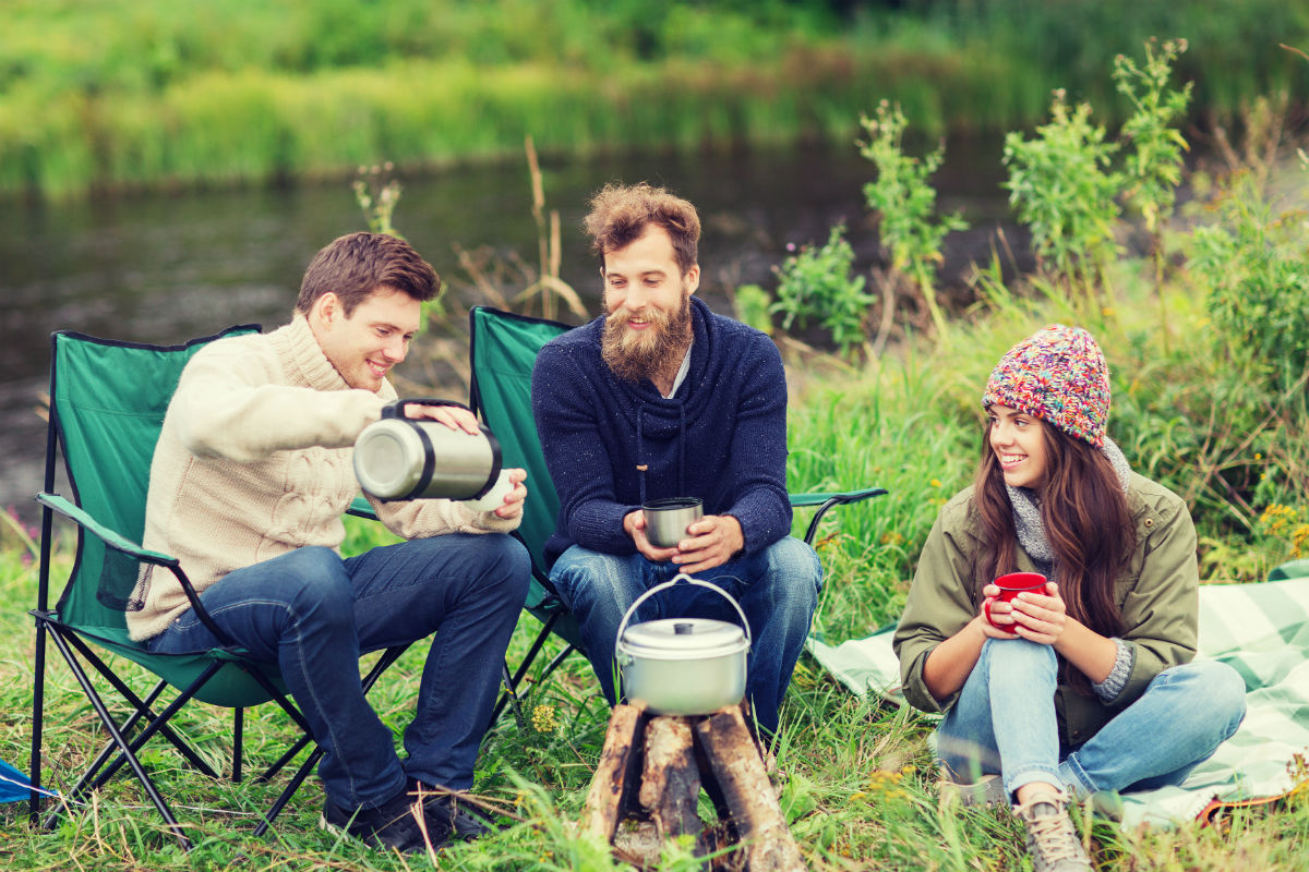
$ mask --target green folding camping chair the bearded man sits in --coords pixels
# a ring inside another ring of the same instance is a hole
[[[565,647],[546,665],[539,680],[554,672],[569,652],[581,648],[577,621],[559,600],[545,569],[545,544],[559,520],[559,497],[550,480],[531,414],[531,369],[537,362],[537,353],[542,345],[569,329],[568,324],[559,322],[514,315],[486,306],[474,306],[469,312],[473,362],[469,404],[495,433],[504,465],[528,471],[531,495],[524,506],[517,535],[531,556],[531,586],[525,608],[542,622],[517,671],[508,676],[508,667],[505,669],[505,692],[496,703],[492,723],[507,701],[516,701],[518,684],[551,633],[559,635]],[[829,509],[885,493],[882,488],[865,488],[846,493],[791,494],[789,498],[795,509],[818,507],[805,531],[805,543],[812,545],[818,522]]]

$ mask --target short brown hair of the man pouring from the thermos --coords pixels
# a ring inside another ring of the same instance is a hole
[[[308,315],[319,297],[332,293],[348,318],[382,285],[419,302],[441,293],[441,277],[410,243],[385,233],[351,233],[323,246],[309,261],[296,311]]]

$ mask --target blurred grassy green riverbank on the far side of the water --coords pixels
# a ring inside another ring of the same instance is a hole
[[[1103,69],[1151,35],[1189,39],[1198,122],[1309,93],[1278,48],[1309,43],[1309,13],[1195,5],[27,0],[0,37],[0,197],[418,173],[526,135],[543,154],[848,143],[882,98],[931,137],[1030,127],[1054,88],[1111,119]]]

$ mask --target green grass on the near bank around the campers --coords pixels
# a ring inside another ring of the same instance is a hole
[[[1187,360],[1158,350],[1158,306],[1143,305],[1132,285],[1119,294],[1121,315],[1093,324],[1110,362],[1138,354],[1162,360],[1160,373],[1115,367],[1115,391],[1134,390],[1124,379],[1151,384],[1185,379],[1204,354],[1194,346]],[[831,512],[821,529],[819,552],[827,567],[816,630],[831,642],[869,633],[894,620],[903,604],[918,550],[940,503],[962,486],[973,468],[979,438],[977,396],[991,363],[1018,337],[1069,315],[1052,295],[1039,302],[997,307],[952,324],[939,341],[910,337],[895,356],[863,370],[810,360],[791,367],[793,446],[791,481],[798,490],[881,484],[891,494]],[[1203,335],[1203,310],[1175,306],[1170,328]],[[1144,339],[1143,339],[1144,337]],[[1177,345],[1177,343],[1174,343]],[[1139,388],[1138,388],[1139,390]],[[1123,416],[1144,414],[1124,411]],[[1131,425],[1131,420],[1121,421]],[[1138,422],[1139,424],[1139,422]],[[1111,425],[1111,431],[1118,431]],[[1135,447],[1128,458],[1141,464]],[[1175,485],[1177,482],[1174,482]],[[1279,497],[1282,498],[1282,497]],[[1257,552],[1264,565],[1289,557],[1285,543],[1254,533],[1233,533],[1200,511],[1198,523],[1223,553]],[[797,518],[797,529],[808,518]],[[376,541],[353,527],[351,546]],[[69,565],[69,549],[56,549],[56,578]],[[1221,556],[1221,554],[1220,554]],[[1224,562],[1210,561],[1211,578],[1224,578]],[[0,682],[4,711],[0,756],[20,767],[27,758],[33,634],[24,609],[34,600],[35,571],[29,552],[12,529],[0,539]],[[525,616],[511,658],[521,656],[537,624]],[[552,643],[554,647],[554,643]],[[558,648],[554,648],[558,650]],[[551,651],[547,650],[547,656]],[[54,652],[51,652],[54,656]],[[407,654],[373,697],[384,719],[402,729],[421,669],[423,651]],[[124,667],[127,672],[135,668]],[[97,744],[94,716],[80,701],[68,671],[50,669],[46,779],[67,787]],[[589,667],[572,658],[556,676],[531,684],[525,718],[505,715],[488,735],[476,773],[476,791],[521,818],[493,838],[454,846],[440,858],[448,869],[606,869],[617,868],[602,846],[576,835],[567,821],[577,817],[600,754],[607,709]],[[229,713],[200,706],[183,722],[202,736],[202,753],[228,765]],[[935,791],[927,749],[929,724],[907,710],[878,707],[839,686],[802,658],[783,711],[778,746],[781,804],[804,855],[814,869],[1003,869],[1022,868],[1022,834],[1005,812],[944,804]],[[253,763],[274,757],[291,733],[272,707],[251,714],[249,756]],[[321,790],[306,784],[266,841],[249,837],[259,811],[281,786],[246,782],[233,786],[185,771],[174,754],[156,750],[147,765],[158,775],[178,812],[192,829],[195,851],[183,856],[161,831],[156,813],[128,780],[118,779],[88,808],[65,814],[54,833],[25,828],[25,804],[0,809],[0,858],[24,869],[258,869],[353,868],[403,869],[424,859],[370,852],[317,829]],[[1124,833],[1089,825],[1100,868],[1208,869],[1302,868],[1309,850],[1309,801],[1233,814],[1221,826],[1185,825],[1173,830]],[[665,869],[692,869],[692,858],[673,848]]]

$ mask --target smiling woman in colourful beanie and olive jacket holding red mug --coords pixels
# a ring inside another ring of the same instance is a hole
[[[942,790],[1012,797],[1035,868],[1090,869],[1068,804],[1181,783],[1236,732],[1245,682],[1191,662],[1195,528],[1106,437],[1090,333],[1055,324],[1018,343],[982,403],[975,484],[941,510],[895,631],[905,694],[945,715]],[[1014,570],[1050,580],[1001,599]]]

